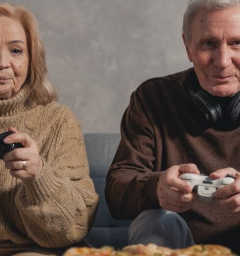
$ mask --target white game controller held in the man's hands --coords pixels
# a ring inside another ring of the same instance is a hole
[[[218,188],[224,187],[235,181],[231,175],[227,175],[225,178],[211,179],[202,174],[185,173],[181,174],[179,178],[185,180],[191,188],[197,187],[198,198],[204,202],[213,202],[214,193]]]

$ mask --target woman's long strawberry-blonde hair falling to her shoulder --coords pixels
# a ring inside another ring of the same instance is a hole
[[[30,104],[47,104],[57,101],[57,93],[46,78],[45,50],[34,15],[22,6],[0,3],[1,16],[17,20],[24,27],[29,51],[29,65],[25,85],[31,87],[30,95],[26,102]]]

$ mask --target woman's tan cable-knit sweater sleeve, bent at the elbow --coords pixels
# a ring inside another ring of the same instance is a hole
[[[54,131],[54,149],[37,180],[23,181],[15,197],[27,236],[43,247],[83,239],[96,214],[98,197],[89,177],[83,134],[74,115]]]

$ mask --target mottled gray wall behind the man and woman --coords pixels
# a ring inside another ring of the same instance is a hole
[[[181,39],[187,0],[12,0],[38,20],[48,78],[84,132],[119,132],[144,80],[191,67]]]

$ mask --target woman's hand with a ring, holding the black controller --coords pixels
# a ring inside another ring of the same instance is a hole
[[[10,174],[22,180],[37,179],[43,162],[38,152],[37,143],[26,133],[19,132],[10,127],[8,131],[15,133],[8,135],[3,142],[5,144],[20,142],[24,147],[17,148],[3,155],[5,167]]]

